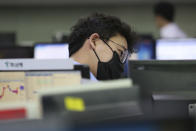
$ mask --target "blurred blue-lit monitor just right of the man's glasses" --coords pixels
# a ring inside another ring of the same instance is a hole
[[[151,35],[140,35],[134,48],[136,53],[132,54],[131,59],[151,60],[155,58],[155,40]]]

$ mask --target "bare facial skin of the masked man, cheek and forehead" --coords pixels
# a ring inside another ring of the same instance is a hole
[[[106,42],[112,48],[113,51],[116,51],[118,53],[119,57],[125,51],[125,49],[128,48],[127,40],[120,34],[111,37]],[[106,45],[106,43],[103,40],[99,39],[97,41],[95,51],[101,62],[108,62],[112,59],[112,50]]]

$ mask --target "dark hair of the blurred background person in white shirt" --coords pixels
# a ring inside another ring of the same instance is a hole
[[[154,14],[157,16],[162,16],[166,20],[172,22],[174,21],[175,8],[170,2],[159,2],[154,6]]]

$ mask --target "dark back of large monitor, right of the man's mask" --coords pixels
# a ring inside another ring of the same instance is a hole
[[[195,66],[194,60],[130,60],[129,76],[149,92],[195,90]]]

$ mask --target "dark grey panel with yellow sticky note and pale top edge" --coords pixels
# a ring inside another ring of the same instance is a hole
[[[130,79],[40,90],[42,116],[66,116],[87,124],[141,115],[139,87]]]

